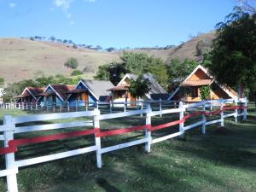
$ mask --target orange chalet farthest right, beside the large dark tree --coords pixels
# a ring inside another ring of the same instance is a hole
[[[236,91],[225,88],[218,84],[208,73],[208,70],[201,65],[182,82],[180,86],[172,93],[169,99],[183,100],[184,102],[201,102],[200,88],[210,86],[210,99],[229,99],[237,96]]]

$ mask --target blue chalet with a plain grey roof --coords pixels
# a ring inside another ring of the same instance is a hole
[[[70,105],[79,103],[79,106],[89,102],[108,102],[110,100],[110,92],[108,89],[113,87],[110,81],[97,81],[81,79],[79,84],[73,89],[67,91],[67,102]]]

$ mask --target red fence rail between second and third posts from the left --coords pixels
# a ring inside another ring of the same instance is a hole
[[[119,130],[100,131],[96,133],[96,137],[108,137],[108,136],[120,135],[128,132],[149,129],[150,127],[151,125],[140,125],[140,126],[133,126],[130,128],[119,129]]]

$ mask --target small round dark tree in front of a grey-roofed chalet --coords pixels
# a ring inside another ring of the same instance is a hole
[[[136,80],[131,80],[131,85],[129,87],[129,91],[131,96],[137,98],[145,96],[150,90],[150,83],[148,79],[143,79],[143,75],[139,75]]]

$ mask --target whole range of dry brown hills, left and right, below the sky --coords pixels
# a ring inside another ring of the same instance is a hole
[[[214,32],[201,34],[188,42],[174,46],[170,49],[132,49],[128,51],[142,52],[154,55],[169,62],[172,59],[185,58],[200,60],[197,55],[197,45],[202,49],[209,49]],[[122,51],[113,53],[95,49],[74,49],[73,46],[45,41],[32,41],[24,38],[0,38],[0,77],[7,83],[21,79],[32,79],[39,71],[45,75],[69,75],[72,70],[64,67],[69,57],[79,61],[79,70],[85,68],[84,78],[92,79],[97,67],[111,62],[120,61]]]

